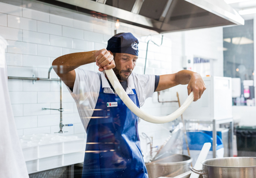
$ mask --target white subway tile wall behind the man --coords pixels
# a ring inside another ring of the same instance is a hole
[[[42,4],[42,8],[44,7],[47,8],[47,5]],[[61,9],[61,12],[65,11],[65,9]],[[102,23],[102,20],[87,15],[66,12],[68,16],[80,17],[83,21],[0,2],[0,36],[8,42],[6,50],[8,76],[32,77],[34,75],[39,78],[48,78],[49,67],[55,58],[68,53],[107,47],[108,39],[114,35],[114,22]],[[123,23],[120,23],[117,30],[117,33],[120,32],[131,32],[138,38],[140,42],[139,59],[134,71],[143,74],[147,42],[151,39],[155,43],[161,44],[162,36],[155,31]],[[205,33],[203,37],[207,37],[209,41],[218,37],[221,39],[222,36],[216,35],[218,32],[219,30],[215,29],[210,33]],[[204,31],[196,34],[201,39],[201,34],[204,34]],[[191,35],[196,36],[193,33]],[[191,40],[188,38],[189,42]],[[201,42],[204,40],[202,38]],[[181,70],[181,45],[181,32],[164,36],[161,47],[149,42],[146,74],[170,74],[172,71]],[[192,53],[194,48],[190,48],[189,52]],[[202,49],[206,50],[207,47]],[[198,50],[199,54],[200,49]],[[206,57],[208,52],[208,49],[204,52]],[[212,56],[216,57],[217,55],[219,54]],[[95,63],[81,66],[81,68],[99,72]],[[53,70],[51,78],[58,78]],[[52,109],[60,107],[59,82],[39,80],[33,84],[32,80],[9,79],[8,87],[19,135],[55,133],[60,130],[60,112],[42,110],[46,107]],[[68,131],[64,135],[86,138],[85,128],[79,118],[76,104],[65,85],[63,85],[63,108],[63,124],[73,124],[73,126],[63,127],[63,131]],[[157,93],[154,93],[152,98],[146,100],[141,109],[152,115],[163,116],[176,110],[177,104],[160,104],[157,102]],[[153,136],[153,146],[161,145],[169,136],[168,126],[168,123],[152,124],[141,120],[139,135],[143,153],[149,151],[149,145],[141,133],[145,132],[148,136]]]

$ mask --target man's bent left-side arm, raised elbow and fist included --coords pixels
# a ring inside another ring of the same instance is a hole
[[[106,49],[66,54],[56,58],[52,62],[52,67],[60,79],[68,87],[73,89],[76,79],[74,69],[93,62],[96,62],[99,66],[99,71],[103,71],[104,69],[113,69],[115,67],[113,55],[111,55]]]

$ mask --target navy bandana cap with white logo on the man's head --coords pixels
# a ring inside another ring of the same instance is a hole
[[[138,56],[138,39],[131,33],[113,36],[107,41],[107,50],[112,53],[127,53]]]

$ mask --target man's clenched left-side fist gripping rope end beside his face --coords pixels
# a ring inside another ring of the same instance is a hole
[[[98,50],[94,53],[96,65],[99,66],[99,71],[113,69],[115,67],[113,55],[106,49]]]

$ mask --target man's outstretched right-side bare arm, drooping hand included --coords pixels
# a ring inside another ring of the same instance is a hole
[[[200,74],[189,70],[182,70],[175,74],[160,75],[156,91],[165,90],[176,85],[188,84],[188,95],[193,91],[194,101],[201,98],[206,86]]]

